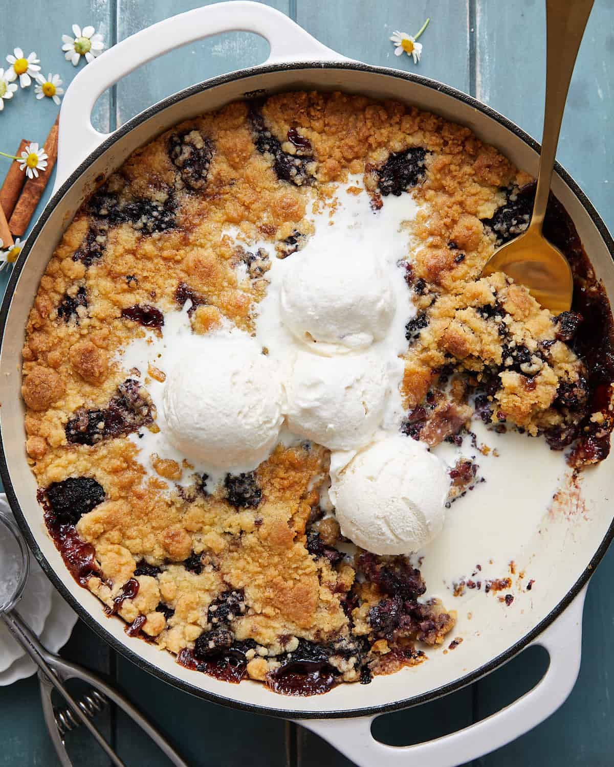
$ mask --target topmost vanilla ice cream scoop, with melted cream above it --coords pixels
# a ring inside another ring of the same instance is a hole
[[[286,328],[312,351],[339,354],[385,337],[394,291],[385,263],[357,258],[341,236],[288,259],[279,308]]]

